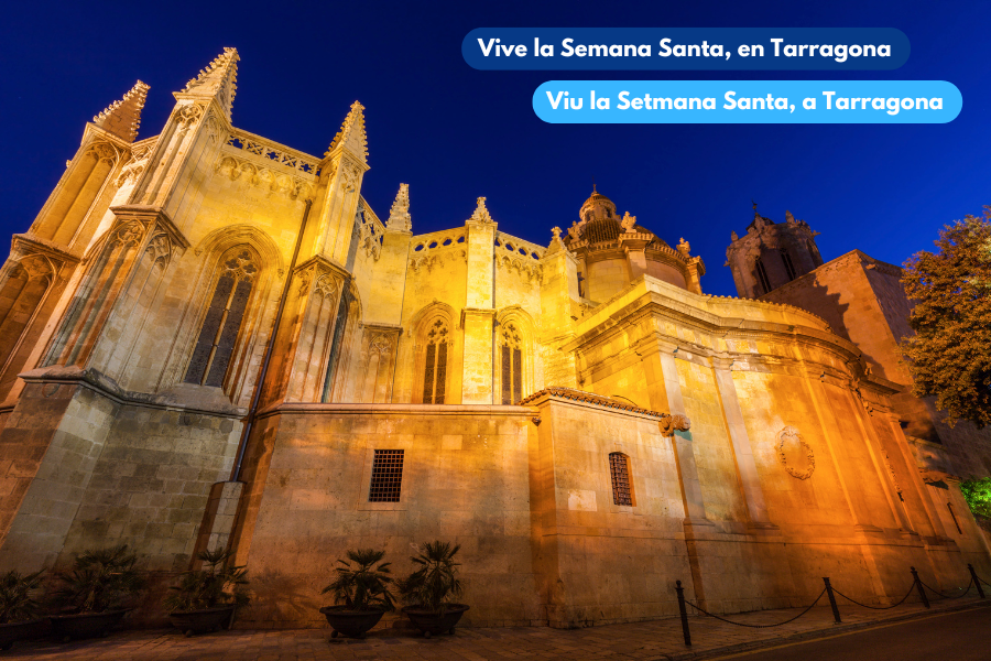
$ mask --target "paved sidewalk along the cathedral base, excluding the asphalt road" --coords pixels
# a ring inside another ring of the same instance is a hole
[[[824,597],[825,600],[825,597]],[[889,610],[869,610],[838,598],[843,624],[832,621],[829,606],[817,606],[794,622],[766,629],[738,627],[710,617],[691,616],[690,648],[685,647],[678,618],[609,625],[587,629],[547,627],[457,629],[454,636],[424,639],[409,630],[381,627],[364,640],[330,639],[330,629],[281,631],[221,631],[184,638],[175,630],[123,631],[106,639],[62,644],[35,641],[14,646],[0,657],[87,661],[197,660],[296,661],[398,659],[482,661],[488,659],[699,659],[783,642],[832,636],[872,624],[913,619],[934,613],[991,608],[991,599],[967,597],[940,600],[927,610],[906,604]],[[749,625],[787,620],[799,608],[728,616]],[[989,610],[991,619],[991,610]]]

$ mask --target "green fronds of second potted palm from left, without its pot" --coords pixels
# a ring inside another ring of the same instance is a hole
[[[54,600],[68,613],[106,613],[122,608],[144,588],[138,556],[128,545],[89,550],[76,555],[73,567],[58,572]]]

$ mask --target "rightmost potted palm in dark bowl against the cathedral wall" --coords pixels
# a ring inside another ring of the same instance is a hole
[[[460,564],[454,561],[460,548],[439,540],[425,543],[420,555],[410,559],[415,571],[396,582],[406,604],[403,613],[426,638],[442,631],[454,633],[455,625],[468,610],[465,604],[450,600],[461,595]]]

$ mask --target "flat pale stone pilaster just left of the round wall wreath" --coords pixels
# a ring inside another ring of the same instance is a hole
[[[737,472],[740,475],[740,484],[743,486],[743,499],[747,501],[750,523],[754,528],[777,529],[767,518],[764,490],[761,488],[756,462],[753,458],[753,447],[750,444],[747,425],[743,423],[743,410],[740,408],[737,386],[733,383],[733,373],[730,369],[733,360],[725,356],[714,356],[710,360],[716,375],[722,418],[733,444],[733,456],[737,462]]]

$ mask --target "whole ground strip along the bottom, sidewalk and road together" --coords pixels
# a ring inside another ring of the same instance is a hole
[[[764,610],[728,616],[737,622],[774,625],[802,609]],[[585,629],[459,628],[454,636],[425,639],[383,620],[364,640],[330,639],[327,629],[232,630],[185,638],[175,630],[130,630],[105,639],[63,644],[19,643],[8,659],[86,661],[316,661],[504,659],[654,660],[732,658],[781,659],[991,659],[991,599],[965,597],[933,604],[904,604],[870,610],[840,600],[843,622],[834,622],[828,606],[815,607],[797,620],[767,628],[741,627],[691,616],[691,647],[686,647],[678,618]],[[937,616],[937,617],[934,617]],[[876,628],[883,627],[883,628]],[[870,630],[865,628],[871,628]],[[815,639],[798,643],[801,640]],[[789,647],[781,647],[789,646]],[[770,648],[770,649],[769,649]],[[751,652],[751,650],[762,651]],[[983,654],[981,651],[983,650]],[[739,655],[744,652],[745,655]]]

